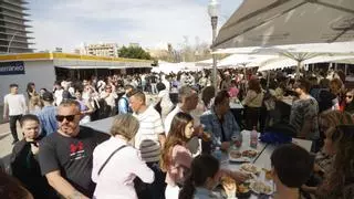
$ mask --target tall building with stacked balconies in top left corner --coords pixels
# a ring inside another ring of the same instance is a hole
[[[24,0],[0,0],[0,53],[25,53],[32,52],[29,48],[28,31],[31,25],[27,24],[30,20],[29,10]]]

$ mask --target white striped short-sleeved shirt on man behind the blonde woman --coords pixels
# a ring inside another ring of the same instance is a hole
[[[135,135],[135,148],[142,153],[142,158],[146,163],[159,160],[160,144],[158,135],[164,133],[162,117],[158,112],[149,106],[144,113],[133,114],[139,122],[139,129]]]

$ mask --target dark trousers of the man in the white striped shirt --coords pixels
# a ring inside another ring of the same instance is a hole
[[[153,184],[144,184],[139,178],[135,178],[135,190],[139,199],[165,199],[166,174],[159,168],[158,161],[146,163],[154,171],[155,180]]]

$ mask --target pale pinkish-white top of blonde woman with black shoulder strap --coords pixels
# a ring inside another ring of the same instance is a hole
[[[135,177],[139,177],[146,184],[154,181],[154,171],[146,166],[139,157],[139,151],[132,146],[124,147],[112,156],[98,176],[102,165],[122,145],[128,144],[121,138],[111,137],[94,149],[91,177],[97,185],[93,198],[137,199],[133,182]]]

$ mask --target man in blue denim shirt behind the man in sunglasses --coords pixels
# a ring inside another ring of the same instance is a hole
[[[50,135],[58,129],[56,123],[56,107],[53,105],[54,97],[51,92],[45,92],[42,95],[44,107],[37,114],[41,124],[41,135]]]

